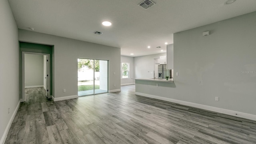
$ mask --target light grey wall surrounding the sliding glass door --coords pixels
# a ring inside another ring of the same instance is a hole
[[[109,90],[120,90],[120,48],[22,29],[19,29],[19,40],[54,45],[54,98],[78,94],[77,58],[109,60]],[[66,92],[63,92],[63,89],[66,89]]]

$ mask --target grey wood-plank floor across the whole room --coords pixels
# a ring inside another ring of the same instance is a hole
[[[53,102],[27,89],[5,144],[256,144],[256,121],[134,93]]]

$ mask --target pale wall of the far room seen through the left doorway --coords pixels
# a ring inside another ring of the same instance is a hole
[[[44,55],[25,54],[25,88],[44,85]]]

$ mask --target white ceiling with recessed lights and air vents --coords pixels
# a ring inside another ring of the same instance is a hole
[[[121,55],[166,52],[173,34],[256,11],[256,0],[9,0],[18,28],[121,48]],[[102,26],[104,20],[112,26]],[[96,35],[93,32],[103,32]],[[151,46],[151,48],[147,48]],[[161,46],[162,48],[156,48]]]

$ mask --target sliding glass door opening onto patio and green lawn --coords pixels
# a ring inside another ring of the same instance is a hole
[[[108,60],[78,58],[78,96],[108,92]]]

